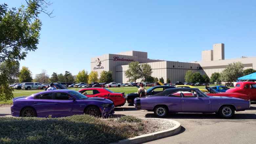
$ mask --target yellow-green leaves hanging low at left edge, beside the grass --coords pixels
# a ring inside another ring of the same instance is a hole
[[[0,72],[0,101],[7,101],[13,98],[13,89],[9,87],[8,76],[5,70]]]

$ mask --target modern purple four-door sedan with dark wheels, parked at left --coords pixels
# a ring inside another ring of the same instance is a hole
[[[114,114],[109,99],[89,98],[74,90],[39,92],[29,97],[13,99],[11,115],[14,117],[66,117],[88,114],[96,117]]]

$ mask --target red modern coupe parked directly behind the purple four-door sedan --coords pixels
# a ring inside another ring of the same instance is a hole
[[[114,102],[115,107],[123,106],[126,101],[124,93],[115,93],[107,88],[84,88],[78,91],[86,97],[98,97],[110,99]]]

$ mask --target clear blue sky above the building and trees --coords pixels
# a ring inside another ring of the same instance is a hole
[[[0,0],[19,7],[25,0]],[[150,59],[199,61],[225,44],[225,59],[256,56],[256,1],[51,0],[54,18],[40,15],[40,44],[21,66],[33,74],[76,75],[90,58],[129,50]]]

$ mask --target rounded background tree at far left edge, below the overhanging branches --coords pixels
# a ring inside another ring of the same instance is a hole
[[[7,74],[8,82],[15,83],[15,79],[20,73],[20,63],[19,62],[3,62],[0,64],[0,72]]]

